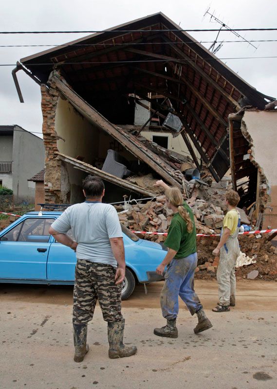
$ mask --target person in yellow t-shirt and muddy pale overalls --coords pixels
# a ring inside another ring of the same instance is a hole
[[[223,219],[221,239],[213,250],[214,255],[219,255],[220,260],[217,269],[217,282],[219,288],[218,306],[212,309],[213,312],[228,312],[230,305],[236,304],[236,275],[235,265],[240,254],[238,235],[240,231],[240,212],[236,207],[240,201],[237,192],[229,190],[226,192],[226,203],[228,212]]]

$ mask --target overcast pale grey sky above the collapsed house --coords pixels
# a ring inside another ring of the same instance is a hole
[[[103,30],[121,23],[163,12],[183,29],[220,28],[203,14],[210,7],[215,16],[232,28],[277,28],[277,3],[261,0],[25,0],[2,1],[1,31],[61,31]],[[217,33],[190,33],[199,41],[214,40]],[[242,32],[246,39],[276,39],[277,31]],[[62,44],[82,37],[60,35],[0,35],[0,45]],[[231,33],[221,33],[222,40],[238,39]],[[216,54],[219,58],[277,56],[277,42],[224,43]],[[209,47],[210,44],[204,44]],[[0,47],[0,64],[16,64],[23,57],[46,47]],[[259,91],[277,97],[277,58],[223,60],[240,77]],[[28,131],[41,132],[39,86],[23,71],[18,81],[25,103],[18,100],[11,71],[15,66],[0,67],[0,125],[18,124]]]

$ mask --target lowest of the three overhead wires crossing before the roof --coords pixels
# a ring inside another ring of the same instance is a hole
[[[151,56],[149,54],[149,56]],[[277,58],[277,56],[261,56],[261,57],[226,57],[226,58],[199,58],[203,61],[217,61],[220,60],[227,60],[227,59],[258,59],[258,58]],[[58,65],[58,66],[67,66],[67,65],[105,65],[105,64],[127,64],[127,63],[140,63],[140,62],[171,62],[175,58],[172,59],[153,59],[153,60],[129,60],[129,61],[103,61],[103,62],[67,62],[67,63],[55,63],[55,62],[45,62],[45,63],[31,63],[31,64],[23,64],[24,66],[31,67],[31,66],[49,66],[49,65]],[[187,61],[193,61],[195,62],[195,59],[178,59],[176,60],[180,63],[186,63]],[[17,66],[17,64],[0,64],[0,66]]]

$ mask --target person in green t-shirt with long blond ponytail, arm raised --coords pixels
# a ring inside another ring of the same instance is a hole
[[[179,311],[178,297],[185,302],[191,315],[196,313],[198,324],[195,334],[212,327],[203,306],[194,291],[194,272],[197,266],[196,228],[191,209],[183,200],[178,188],[170,188],[162,180],[156,185],[165,189],[166,206],[174,215],[164,245],[168,248],[163,262],[156,272],[163,274],[166,267],[165,283],[161,292],[161,308],[166,326],[155,328],[158,336],[178,337],[176,318]]]

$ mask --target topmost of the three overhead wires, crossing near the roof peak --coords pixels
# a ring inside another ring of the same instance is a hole
[[[148,29],[148,30],[92,30],[92,31],[0,31],[0,34],[96,34],[96,33],[158,33],[158,32],[232,32],[232,31],[277,31],[277,28],[233,28],[233,29]]]

